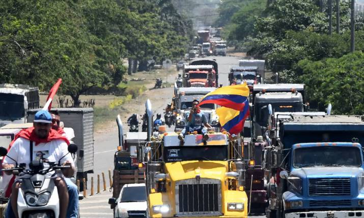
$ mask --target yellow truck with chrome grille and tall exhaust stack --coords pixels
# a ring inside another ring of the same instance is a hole
[[[181,145],[178,133],[152,133],[149,100],[146,107],[147,217],[247,217],[240,139],[209,132],[204,143],[192,133]]]

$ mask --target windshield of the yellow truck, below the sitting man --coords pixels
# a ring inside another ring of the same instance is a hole
[[[228,148],[226,145],[164,147],[164,160],[166,162],[226,161]]]

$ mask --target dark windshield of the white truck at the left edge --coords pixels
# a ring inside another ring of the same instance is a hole
[[[0,93],[0,119],[16,120],[24,114],[24,96]]]

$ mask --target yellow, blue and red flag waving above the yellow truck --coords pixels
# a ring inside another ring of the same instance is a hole
[[[249,87],[244,83],[218,88],[203,97],[199,106],[203,104],[221,106],[216,109],[221,127],[230,134],[238,134],[249,116]]]

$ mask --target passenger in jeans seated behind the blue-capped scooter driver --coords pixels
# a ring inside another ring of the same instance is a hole
[[[60,135],[67,137],[65,131],[60,126],[61,123],[61,116],[57,111],[54,111],[51,113],[52,116],[52,129],[57,131]],[[70,137],[67,137],[67,139],[71,140]],[[66,175],[65,176],[65,182],[67,184],[67,190],[69,195],[69,202],[67,207],[67,218],[77,218],[78,217],[78,188],[75,183],[72,182],[70,177],[73,177],[73,174]]]

